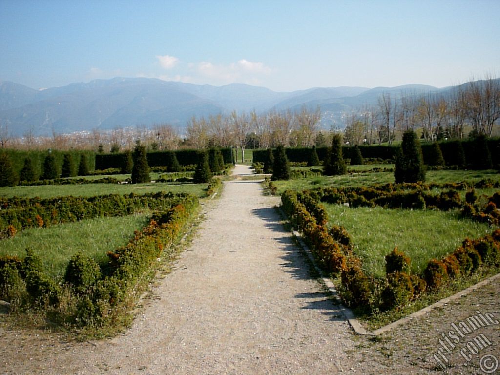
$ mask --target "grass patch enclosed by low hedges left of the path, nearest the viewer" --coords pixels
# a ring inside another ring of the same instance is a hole
[[[30,228],[15,237],[1,240],[0,256],[25,256],[30,247],[42,260],[44,271],[59,279],[69,258],[81,252],[98,263],[107,261],[106,252],[122,246],[141,229],[151,216],[143,212],[125,217],[98,217],[47,228]]]

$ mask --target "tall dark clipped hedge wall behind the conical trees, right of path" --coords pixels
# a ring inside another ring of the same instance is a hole
[[[460,168],[491,169],[500,168],[500,138],[481,138],[464,140],[445,140],[437,143],[445,165],[457,165]],[[358,146],[363,159],[393,160],[398,146],[367,145]],[[421,143],[424,162],[435,165],[435,152],[432,143]],[[342,155],[346,159],[354,156],[355,147],[342,146]],[[286,148],[286,157],[290,162],[307,162],[312,148]],[[318,147],[316,153],[319,160],[324,161],[327,148]],[[490,162],[487,160],[489,154]],[[266,150],[254,150],[253,161],[264,162]]]

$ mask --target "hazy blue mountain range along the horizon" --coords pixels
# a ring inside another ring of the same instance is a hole
[[[316,87],[276,92],[245,84],[196,85],[156,78],[97,79],[62,87],[33,89],[0,81],[0,123],[13,136],[28,131],[51,135],[75,131],[108,130],[136,125],[170,123],[182,133],[187,121],[210,114],[321,108],[322,127],[338,123],[341,114],[374,104],[380,93],[442,90],[432,86]]]

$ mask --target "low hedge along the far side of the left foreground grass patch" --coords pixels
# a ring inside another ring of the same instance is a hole
[[[187,194],[165,192],[137,195],[109,194],[92,197],[56,198],[0,197],[0,238],[29,227],[49,226],[98,216],[123,216],[149,207],[165,209]]]

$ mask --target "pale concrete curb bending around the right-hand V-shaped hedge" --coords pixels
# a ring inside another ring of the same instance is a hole
[[[286,217],[284,215],[284,212],[282,212],[281,209],[279,209],[279,210],[280,210],[282,217]],[[326,288],[328,288],[328,291],[331,293],[332,296],[336,297],[340,301],[341,299],[338,296],[335,285],[333,284],[333,282],[331,282],[331,279],[329,277],[326,277],[324,275],[324,273],[322,272],[322,270],[317,266],[316,260],[312,256],[312,253],[311,253],[309,247],[304,242],[302,235],[297,231],[293,231],[293,236],[296,238],[297,242],[300,244],[300,247],[302,247],[305,254],[307,254],[307,257],[309,258],[311,263],[314,265],[314,269],[321,275],[322,282],[326,286]],[[442,306],[450,301],[453,301],[453,300],[458,299],[464,295],[467,295],[471,291],[474,291],[475,289],[480,288],[481,286],[487,285],[491,281],[496,280],[497,278],[500,278],[500,273],[497,273],[491,277],[488,277],[482,281],[479,281],[478,283],[471,285],[463,290],[460,290],[457,293],[450,295],[449,297],[443,298],[437,302],[429,304],[428,306],[425,306],[422,309],[409,314],[408,316],[402,317],[396,321],[393,321],[393,322],[391,322],[387,325],[384,325],[383,327],[380,327],[378,329],[375,329],[373,331],[369,331],[366,328],[364,328],[361,325],[361,323],[359,322],[359,320],[354,317],[354,313],[352,312],[352,310],[350,308],[345,307],[341,303],[339,304],[339,306],[340,306],[340,310],[342,311],[343,315],[345,316],[345,319],[348,321],[349,325],[352,327],[354,332],[356,332],[359,335],[377,336],[379,334],[382,334],[384,332],[389,331],[390,329],[392,329],[398,325],[405,324],[405,323],[411,321],[412,319],[415,319],[419,316],[422,316],[436,307],[440,307],[440,306]]]

